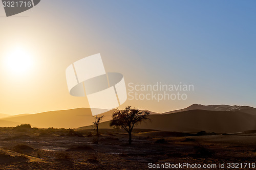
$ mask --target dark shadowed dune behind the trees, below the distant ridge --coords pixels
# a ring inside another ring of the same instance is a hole
[[[256,129],[256,116],[239,111],[189,110],[179,113],[150,115],[151,122],[137,125],[140,129],[179,132],[234,133]],[[82,127],[90,129],[90,126]],[[81,128],[81,129],[82,129]],[[110,128],[103,122],[99,128]]]

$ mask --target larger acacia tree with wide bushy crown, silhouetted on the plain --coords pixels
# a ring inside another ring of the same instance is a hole
[[[132,131],[134,125],[146,121],[150,115],[149,111],[141,111],[139,109],[125,107],[124,110],[115,111],[110,121],[111,127],[123,128],[129,134],[129,144],[132,144]]]

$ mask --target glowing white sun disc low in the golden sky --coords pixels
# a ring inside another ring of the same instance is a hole
[[[10,71],[12,74],[25,75],[32,69],[33,58],[25,48],[12,48],[12,50],[5,55],[4,66],[7,71]]]

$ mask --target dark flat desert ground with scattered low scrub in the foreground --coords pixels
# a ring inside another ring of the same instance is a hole
[[[92,129],[16,127],[0,128],[0,139],[0,169],[150,169],[148,163],[219,165],[256,160],[256,131],[216,134],[134,129],[129,145],[128,135],[118,129],[100,129],[95,144]]]

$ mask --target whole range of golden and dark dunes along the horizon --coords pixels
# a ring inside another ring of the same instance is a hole
[[[151,123],[137,126],[142,129],[164,131],[209,131],[220,133],[256,130],[256,109],[249,106],[199,105],[166,113],[151,112]],[[104,115],[100,128],[110,128],[111,110]],[[146,110],[145,110],[146,111]],[[38,128],[79,128],[90,127],[94,122],[90,108],[49,111],[36,114],[20,114],[0,118],[0,127],[31,124]],[[90,127],[91,128],[91,127]]]

